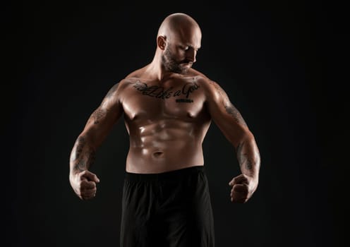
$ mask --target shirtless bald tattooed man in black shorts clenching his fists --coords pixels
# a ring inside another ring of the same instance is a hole
[[[246,203],[258,186],[260,155],[253,133],[218,83],[191,68],[201,38],[191,16],[167,16],[152,62],[109,90],[73,145],[71,186],[79,198],[94,198],[99,179],[89,167],[123,114],[130,148],[122,247],[214,246],[202,148],[211,121],[233,145],[240,164],[241,174],[228,181],[231,201]]]

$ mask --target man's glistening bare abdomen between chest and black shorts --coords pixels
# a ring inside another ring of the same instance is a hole
[[[162,120],[129,126],[126,171],[151,174],[203,165],[202,136],[191,122]]]

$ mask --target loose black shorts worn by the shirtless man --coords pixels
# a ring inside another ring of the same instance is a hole
[[[214,247],[203,166],[161,174],[126,173],[121,247]]]

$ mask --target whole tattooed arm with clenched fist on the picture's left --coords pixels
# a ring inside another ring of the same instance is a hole
[[[118,86],[119,83],[116,83],[92,112],[71,151],[69,181],[74,192],[83,200],[95,197],[99,179],[89,171],[89,167],[95,161],[97,148],[123,113]]]

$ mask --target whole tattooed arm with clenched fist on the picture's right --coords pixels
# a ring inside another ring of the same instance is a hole
[[[206,90],[207,109],[212,120],[234,146],[241,174],[229,182],[231,201],[246,203],[258,187],[260,154],[253,133],[239,111],[230,102],[227,93],[215,82],[209,81]]]

